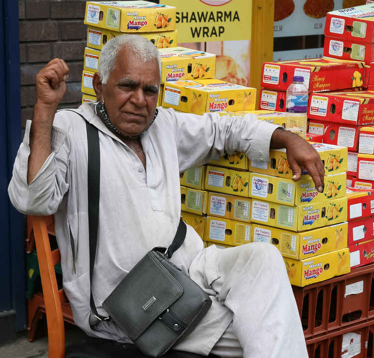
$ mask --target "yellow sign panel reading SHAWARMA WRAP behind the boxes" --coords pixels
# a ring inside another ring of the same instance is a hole
[[[176,6],[179,42],[250,40],[251,0],[161,0]]]

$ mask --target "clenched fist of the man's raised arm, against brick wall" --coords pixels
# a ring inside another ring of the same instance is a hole
[[[65,94],[68,75],[69,68],[60,58],[54,58],[42,68],[36,75],[36,104],[55,112]]]

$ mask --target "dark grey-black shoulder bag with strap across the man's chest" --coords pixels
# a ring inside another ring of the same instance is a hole
[[[96,256],[100,197],[100,146],[96,127],[86,121],[88,140],[88,218],[90,282]],[[103,302],[109,317],[98,314],[92,296],[92,313],[113,319],[139,350],[160,357],[187,336],[211,306],[209,296],[169,259],[183,244],[186,223],[181,219],[168,249],[149,251]]]

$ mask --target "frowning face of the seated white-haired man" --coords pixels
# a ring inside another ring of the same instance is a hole
[[[155,114],[159,88],[157,60],[143,62],[121,49],[102,92],[113,125],[125,136],[147,129]]]

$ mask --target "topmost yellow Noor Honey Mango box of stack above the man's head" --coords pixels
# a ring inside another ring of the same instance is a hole
[[[84,23],[120,32],[176,29],[176,8],[150,1],[87,1]]]

